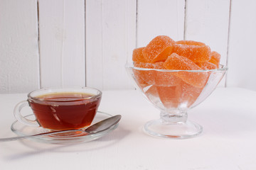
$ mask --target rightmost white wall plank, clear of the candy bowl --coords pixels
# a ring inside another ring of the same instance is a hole
[[[256,1],[232,1],[227,86],[256,90]]]

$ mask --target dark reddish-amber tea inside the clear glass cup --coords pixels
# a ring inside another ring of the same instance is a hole
[[[82,92],[54,92],[35,96],[29,104],[43,128],[79,129],[89,126],[100,105],[101,96]]]

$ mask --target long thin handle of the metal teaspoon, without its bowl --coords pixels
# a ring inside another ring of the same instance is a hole
[[[6,137],[6,138],[0,138],[0,142],[8,142],[8,141],[13,141],[13,140],[23,140],[26,138],[31,138],[31,137],[38,137],[38,136],[43,136],[43,135],[50,135],[50,134],[55,134],[59,132],[78,132],[78,131],[83,131],[83,130],[60,130],[60,131],[54,131],[54,132],[44,132],[36,135],[26,135],[26,136],[18,136],[18,137]]]

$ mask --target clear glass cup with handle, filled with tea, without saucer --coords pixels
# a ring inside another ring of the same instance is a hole
[[[89,126],[100,105],[102,92],[89,87],[54,87],[38,89],[28,94],[14,108],[15,118],[29,126],[48,130],[71,130]],[[21,115],[30,106],[36,120]]]

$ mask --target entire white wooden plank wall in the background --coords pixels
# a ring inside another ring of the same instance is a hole
[[[256,90],[255,8],[253,0],[0,0],[0,93],[132,89],[124,64],[156,35],[206,42],[230,68],[222,86]]]

